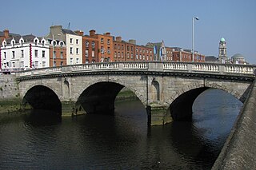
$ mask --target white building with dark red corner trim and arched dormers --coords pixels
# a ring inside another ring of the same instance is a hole
[[[0,46],[2,72],[49,67],[49,44],[34,35],[7,38]]]

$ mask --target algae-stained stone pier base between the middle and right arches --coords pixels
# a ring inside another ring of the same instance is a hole
[[[166,125],[173,121],[166,105],[150,104],[146,106],[148,125]]]

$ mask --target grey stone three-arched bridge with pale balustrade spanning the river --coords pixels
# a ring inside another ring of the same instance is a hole
[[[145,106],[149,125],[191,119],[192,105],[206,89],[222,89],[246,100],[255,65],[185,62],[107,62],[18,72],[23,103],[62,113],[74,102],[75,113],[114,113],[124,87]],[[71,110],[71,109],[70,109]],[[71,111],[70,111],[71,115]]]

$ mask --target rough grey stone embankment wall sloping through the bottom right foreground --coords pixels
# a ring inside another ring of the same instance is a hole
[[[212,169],[256,169],[256,79]]]

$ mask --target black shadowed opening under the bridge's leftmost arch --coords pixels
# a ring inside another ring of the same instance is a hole
[[[30,105],[32,109],[50,110],[56,116],[62,115],[62,103],[54,91],[44,85],[30,88],[22,99],[22,105]]]

